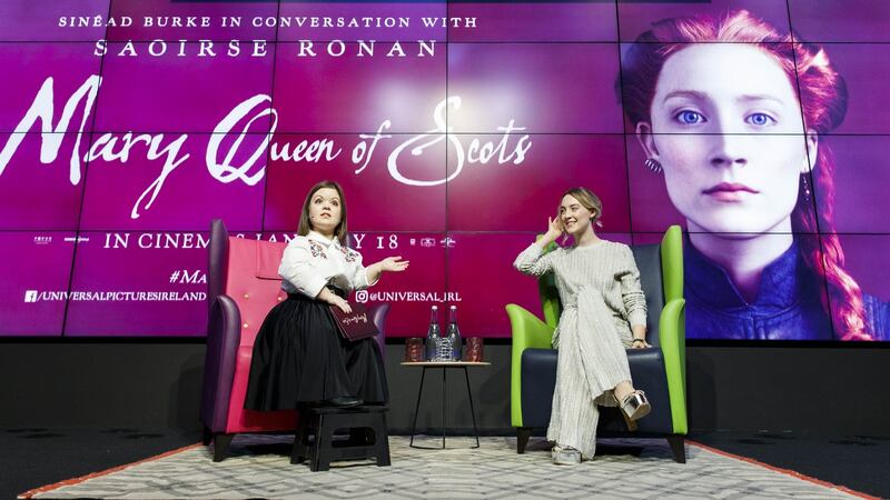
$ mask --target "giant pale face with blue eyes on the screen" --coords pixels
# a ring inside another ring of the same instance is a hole
[[[791,232],[818,141],[804,139],[792,82],[772,56],[730,43],[678,51],[659,77],[651,120],[637,126],[641,142],[690,231]]]

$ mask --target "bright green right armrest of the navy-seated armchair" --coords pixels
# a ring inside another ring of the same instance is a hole
[[[675,434],[685,434],[686,421],[686,329],[684,299],[664,304],[659,318],[659,341],[664,357],[664,374],[671,399],[671,420]]]

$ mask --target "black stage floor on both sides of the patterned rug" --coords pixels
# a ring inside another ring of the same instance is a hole
[[[706,432],[690,439],[773,467],[890,498],[890,437]],[[200,440],[145,429],[0,429],[0,498],[139,461]]]

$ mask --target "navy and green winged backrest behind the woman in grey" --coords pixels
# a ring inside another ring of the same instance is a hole
[[[646,296],[646,340],[659,344],[659,319],[661,310],[670,300],[683,297],[683,234],[679,226],[671,226],[661,243],[635,244],[631,247],[636,267],[640,269],[640,283]],[[547,249],[556,248],[554,243]],[[538,280],[541,307],[544,322],[556,328],[562,311],[560,293],[553,273]]]

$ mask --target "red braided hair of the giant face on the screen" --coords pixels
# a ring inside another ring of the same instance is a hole
[[[624,112],[634,127],[650,120],[655,84],[668,58],[690,43],[701,42],[751,43],[772,54],[797,91],[808,133],[828,133],[843,121],[847,86],[824,50],[814,43],[797,42],[790,33],[779,32],[745,10],[735,10],[720,19],[705,16],[664,19],[636,38],[622,56],[620,80]],[[872,340],[862,290],[844,269],[843,249],[834,229],[833,173],[833,156],[827,144],[820,144],[812,171],[801,176],[802,183],[804,176],[812,178],[813,201],[803,189],[799,191],[791,213],[792,228],[794,232],[819,234],[819,238],[800,238],[799,246],[807,267],[828,286],[822,306],[835,336],[842,340]]]

